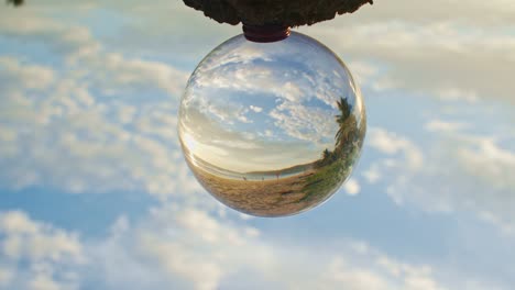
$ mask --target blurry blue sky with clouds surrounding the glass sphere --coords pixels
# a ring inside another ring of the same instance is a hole
[[[216,202],[178,145],[189,74],[240,27],[180,1],[2,7],[0,289],[512,289],[515,7],[375,2],[298,29],[369,130],[342,189],[282,219]]]

